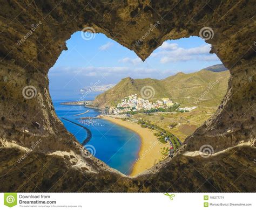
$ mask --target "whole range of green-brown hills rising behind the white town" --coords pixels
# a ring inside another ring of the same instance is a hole
[[[163,80],[124,78],[116,86],[100,94],[95,99],[95,106],[116,106],[124,97],[137,94],[144,86],[154,89],[154,96],[150,100],[170,97],[181,106],[218,106],[223,99],[229,71],[212,72],[201,70],[185,74],[178,73]],[[200,99],[199,99],[200,98]]]

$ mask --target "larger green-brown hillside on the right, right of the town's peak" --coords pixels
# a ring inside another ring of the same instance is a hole
[[[171,99],[185,106],[218,106],[227,91],[230,72],[178,73],[163,80]],[[199,100],[199,98],[201,100]]]

